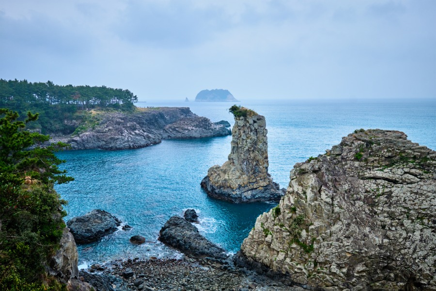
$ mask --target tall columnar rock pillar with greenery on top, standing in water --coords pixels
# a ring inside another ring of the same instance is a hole
[[[278,201],[284,194],[268,174],[265,117],[240,106],[234,114],[229,160],[209,169],[201,185],[207,194],[234,203]]]

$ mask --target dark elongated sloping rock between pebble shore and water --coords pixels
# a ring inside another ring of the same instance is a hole
[[[160,229],[159,241],[192,258],[227,258],[224,249],[208,241],[197,227],[178,216],[172,216]]]

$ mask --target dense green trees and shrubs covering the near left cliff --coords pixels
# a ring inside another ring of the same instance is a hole
[[[25,130],[38,114],[0,109],[0,289],[58,290],[45,263],[59,247],[66,215],[54,183],[73,180],[54,152],[67,145],[38,145],[48,136]]]

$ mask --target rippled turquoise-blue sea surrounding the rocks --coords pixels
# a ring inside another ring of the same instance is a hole
[[[189,107],[213,122],[234,118],[229,102],[147,102],[140,107]],[[355,129],[392,129],[412,142],[436,149],[436,99],[415,100],[263,100],[237,102],[264,115],[268,130],[269,173],[287,188],[296,162],[324,154]],[[116,259],[180,258],[157,240],[173,215],[195,209],[195,224],[207,239],[235,253],[256,218],[274,203],[232,204],[207,196],[200,187],[209,167],[228,159],[231,136],[164,140],[154,146],[126,150],[75,150],[58,153],[62,168],[75,178],[56,185],[68,201],[65,221],[94,209],[109,211],[132,226],[99,242],[79,245],[79,267]],[[134,245],[133,235],[146,242]]]

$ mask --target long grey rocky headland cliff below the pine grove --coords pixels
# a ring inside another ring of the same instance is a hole
[[[97,115],[91,112],[91,114]],[[92,117],[92,116],[91,116]],[[169,138],[225,136],[229,129],[208,118],[192,113],[189,108],[146,108],[135,113],[99,114],[92,122],[81,125],[84,130],[70,136],[54,137],[73,149],[124,149],[158,144]]]

